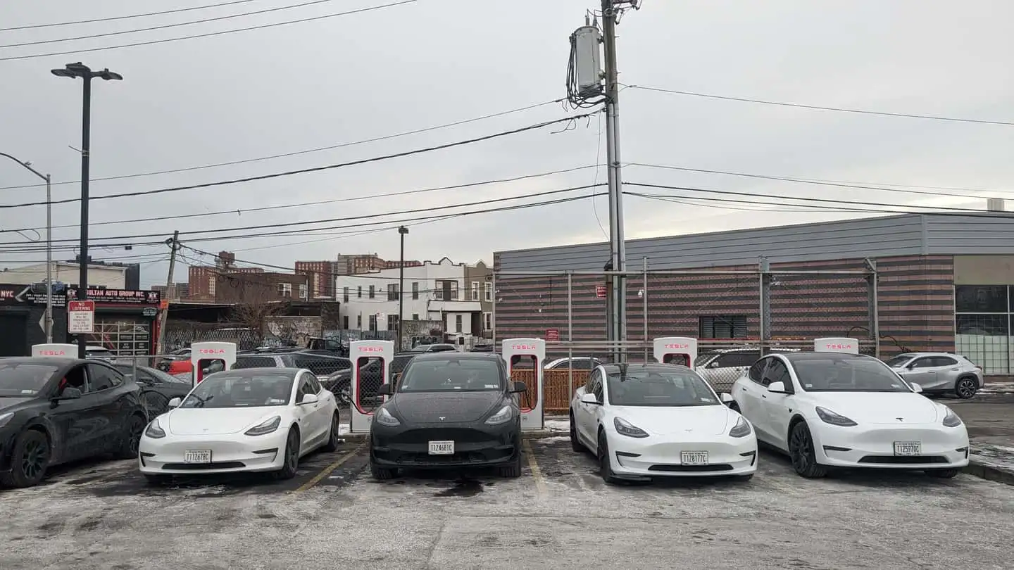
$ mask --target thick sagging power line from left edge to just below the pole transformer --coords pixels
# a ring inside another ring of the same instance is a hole
[[[321,171],[321,170],[331,170],[331,169],[334,169],[334,168],[344,168],[346,166],[355,166],[355,165],[358,165],[358,164],[367,164],[367,163],[370,163],[370,162],[378,162],[380,160],[388,160],[388,159],[391,159],[391,158],[401,158],[403,156],[411,156],[411,155],[414,155],[414,154],[422,154],[424,152],[432,152],[432,151],[435,151],[435,150],[443,150],[443,149],[446,149],[446,148],[453,148],[453,147],[456,147],[456,146],[463,146],[463,145],[474,144],[474,143],[477,143],[477,142],[482,142],[482,141],[488,141],[488,140],[492,140],[492,139],[497,139],[497,138],[500,138],[500,137],[506,137],[506,136],[509,136],[509,135],[516,135],[518,133],[524,133],[526,131],[533,131],[535,129],[542,129],[542,128],[546,128],[546,127],[550,127],[552,125],[558,125],[558,124],[561,124],[561,123],[571,123],[571,122],[577,121],[578,119],[584,119],[586,117],[590,117],[590,116],[594,115],[595,113],[598,113],[598,112],[585,113],[585,114],[581,114],[581,115],[574,115],[574,116],[567,117],[567,118],[564,118],[564,119],[556,119],[554,121],[546,121],[546,122],[542,122],[542,123],[536,123],[534,125],[529,125],[527,127],[521,127],[521,128],[518,128],[518,129],[512,129],[510,131],[501,131],[499,133],[494,133],[492,135],[485,135],[485,136],[482,136],[482,137],[475,137],[475,138],[470,138],[470,139],[465,139],[463,141],[456,141],[456,142],[452,142],[452,143],[445,143],[445,144],[436,145],[436,146],[429,146],[429,147],[425,147],[425,148],[417,148],[417,149],[414,149],[414,150],[407,150],[407,151],[403,151],[403,152],[395,152],[395,153],[392,153],[392,154],[384,154],[384,155],[381,155],[381,156],[374,156],[374,157],[371,157],[371,158],[361,158],[359,160],[351,160],[351,161],[348,161],[348,162],[339,162],[337,164],[327,164],[327,165],[323,165],[323,166],[313,166],[313,167],[310,167],[310,168],[300,168],[300,169],[297,169],[297,170],[286,170],[286,171],[283,171],[283,172],[274,172],[274,173],[271,173],[271,174],[262,174],[262,175],[259,175],[259,176],[246,176],[246,177],[242,177],[242,179],[233,179],[233,180],[229,180],[229,181],[219,181],[219,182],[213,182],[213,183],[204,183],[204,184],[197,184],[197,185],[190,185],[190,186],[179,186],[179,187],[173,187],[173,188],[162,188],[162,189],[158,189],[158,190],[146,190],[146,191],[139,191],[139,192],[125,192],[125,193],[122,193],[122,194],[107,194],[107,195],[104,195],[104,196],[92,196],[89,200],[91,202],[94,202],[95,200],[110,200],[110,199],[113,199],[113,198],[127,198],[127,197],[134,197],[134,196],[150,196],[152,194],[164,194],[164,193],[167,193],[167,192],[182,192],[182,191],[185,191],[185,190],[198,190],[198,189],[204,189],[204,188],[212,188],[212,187],[216,187],[216,186],[226,186],[226,185],[234,185],[234,184],[241,184],[241,183],[249,183],[249,182],[255,182],[255,181],[265,181],[265,180],[269,180],[269,179],[277,179],[277,177],[282,177],[282,176],[291,176],[293,174],[304,174],[306,172],[317,172],[317,171]],[[66,199],[63,199],[63,200],[54,200],[52,203],[54,205],[55,204],[73,204],[75,202],[80,202],[80,201],[81,201],[80,198],[66,198]],[[26,202],[26,203],[23,203],[23,204],[0,204],[0,209],[6,209],[6,208],[23,208],[23,207],[26,207],[26,206],[45,206],[46,204],[47,204],[46,202]]]

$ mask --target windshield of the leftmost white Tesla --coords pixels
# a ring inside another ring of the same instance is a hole
[[[256,408],[288,406],[292,376],[285,374],[214,374],[184,400],[180,408]]]

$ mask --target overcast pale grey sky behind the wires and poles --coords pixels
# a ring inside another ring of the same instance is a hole
[[[49,0],[0,4],[0,27],[95,19],[211,4],[165,0],[99,4]],[[307,0],[256,0],[212,9],[0,31],[0,45],[22,44],[178,23],[292,5]],[[395,0],[334,0],[315,5],[166,29],[0,48],[0,58],[208,33],[306,18]],[[81,82],[50,69],[82,61],[108,67],[124,81],[93,84],[91,177],[120,176],[247,160],[334,146],[464,121],[565,95],[568,37],[595,0],[504,3],[418,0],[386,9],[82,54],[0,61],[0,152],[32,162],[54,182],[79,180]],[[142,6],[146,6],[142,7]],[[522,9],[518,9],[522,8]],[[888,113],[1014,121],[1014,3],[1005,0],[645,0],[619,27],[621,80],[627,84]],[[621,96],[624,162],[764,175],[911,185],[908,193],[793,184],[714,173],[628,166],[628,182],[806,196],[898,205],[985,207],[972,196],[1012,197],[1014,127],[802,110],[627,88]],[[383,141],[294,156],[158,175],[95,181],[92,196],[147,191],[347,162],[435,146],[566,117],[542,105]],[[399,255],[396,230],[305,233],[191,241],[201,229],[365,216],[479,202],[590,185],[604,170],[262,212],[248,208],[515,177],[604,162],[600,123],[580,121],[370,164],[153,196],[94,201],[91,235],[159,234],[172,230],[200,250],[233,251],[237,259],[291,267],[294,260],[338,254]],[[32,185],[30,172],[0,157],[0,187]],[[984,189],[977,194],[928,187]],[[628,188],[628,190],[637,189]],[[913,194],[912,191],[955,196]],[[590,193],[591,191],[584,191]],[[658,192],[658,191],[655,191]],[[43,188],[0,191],[0,204],[45,200]],[[575,196],[571,193],[563,196]],[[670,194],[691,196],[687,193]],[[77,184],[54,186],[54,200],[79,196]],[[704,195],[697,195],[704,196]],[[961,198],[965,196],[965,198]],[[546,198],[522,199],[525,201]],[[736,197],[728,197],[737,199]],[[763,203],[764,200],[757,199]],[[477,209],[478,206],[462,210]],[[813,209],[790,212],[730,203],[669,203],[628,197],[627,236],[646,237],[842,219],[865,214]],[[238,211],[200,218],[132,219]],[[447,210],[453,212],[455,210]],[[457,210],[461,211],[461,210]],[[75,224],[78,205],[54,206],[54,225]],[[370,218],[409,219],[433,213]],[[354,222],[348,222],[354,223]],[[0,210],[0,229],[39,228],[44,206]],[[380,227],[384,227],[381,225]],[[494,251],[601,241],[608,228],[604,198],[479,214],[414,225],[406,257],[492,261]],[[254,232],[256,230],[249,230]],[[327,231],[342,231],[329,229]],[[244,230],[244,232],[246,232]],[[4,243],[28,238],[0,233]],[[54,230],[74,239],[77,227]],[[307,242],[310,241],[310,242]],[[62,244],[61,244],[62,245]],[[45,260],[0,245],[0,267]],[[18,246],[20,247],[20,246]],[[5,252],[6,250],[6,252]],[[164,283],[168,248],[103,248],[95,259],[135,256],[142,285]],[[197,260],[195,254],[185,252]],[[73,258],[58,252],[57,259]],[[145,256],[137,258],[136,256]],[[183,260],[186,264],[187,260]],[[186,280],[186,266],[177,280]]]

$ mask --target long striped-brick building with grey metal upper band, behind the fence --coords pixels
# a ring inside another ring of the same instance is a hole
[[[649,339],[756,339],[758,264],[766,259],[773,275],[765,338],[872,339],[873,287],[863,274],[871,260],[882,354],[900,347],[957,350],[990,373],[1010,373],[1014,215],[984,214],[906,214],[629,240],[628,270],[639,271],[647,258],[648,278],[646,286],[640,276],[628,279],[628,338],[643,338],[647,304]],[[496,338],[544,337],[555,329],[566,339],[566,272],[601,271],[607,261],[605,242],[496,253]],[[651,274],[667,270],[707,272]],[[730,273],[736,271],[742,273]],[[601,275],[571,277],[574,340],[605,338],[605,299],[596,290],[604,282]]]

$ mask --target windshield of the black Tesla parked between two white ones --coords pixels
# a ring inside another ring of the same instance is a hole
[[[477,359],[413,359],[406,366],[399,391],[495,391],[504,389],[499,364]]]

